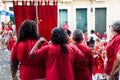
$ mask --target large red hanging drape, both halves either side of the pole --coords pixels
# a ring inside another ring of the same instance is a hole
[[[30,5],[17,5],[14,2],[14,15],[16,23],[16,32],[18,33],[20,24],[27,19],[36,20],[36,7],[30,2]],[[42,37],[47,40],[51,38],[51,31],[57,26],[57,5],[38,5],[38,31]]]

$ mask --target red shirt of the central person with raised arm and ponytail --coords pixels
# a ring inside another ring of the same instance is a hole
[[[45,58],[46,80],[74,80],[73,61],[83,60],[84,54],[76,47],[67,45],[68,53],[63,53],[60,45],[48,45],[34,51],[35,57]]]

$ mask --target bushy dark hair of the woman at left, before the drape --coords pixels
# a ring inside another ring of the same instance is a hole
[[[27,39],[38,40],[39,38],[36,22],[33,20],[25,20],[19,28],[17,43],[26,41]]]

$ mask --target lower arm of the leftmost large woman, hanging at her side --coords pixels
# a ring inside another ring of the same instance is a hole
[[[12,80],[18,80],[17,76],[16,76],[16,73],[17,73],[17,70],[18,70],[18,65],[19,65],[19,61],[17,61],[17,60],[11,61]]]

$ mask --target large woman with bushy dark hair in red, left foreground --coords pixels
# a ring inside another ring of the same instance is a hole
[[[37,33],[36,22],[25,20],[19,29],[17,43],[11,54],[11,73],[13,80],[17,80],[17,70],[20,65],[20,80],[38,80],[45,78],[44,60],[39,57],[31,59],[30,50],[40,36]],[[43,43],[39,48],[47,43]]]

